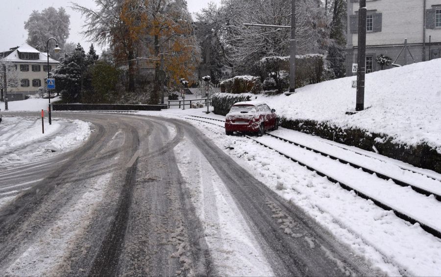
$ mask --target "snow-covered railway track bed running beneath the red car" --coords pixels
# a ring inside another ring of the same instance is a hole
[[[223,128],[221,123],[223,121],[219,119],[193,115],[186,116],[186,118]],[[412,224],[418,223],[425,231],[441,238],[441,223],[437,219],[441,212],[441,182],[438,179],[401,168],[401,172],[407,170],[410,171],[410,173],[406,172],[407,175],[413,175],[410,178],[411,184],[400,179],[396,170],[391,170],[387,166],[381,169],[385,161],[371,162],[372,158],[369,159],[368,156],[354,157],[358,153],[351,149],[341,148],[344,152],[338,153],[332,148],[322,149],[323,147],[319,145],[304,145],[306,143],[267,134],[270,136],[245,137],[276,151],[293,162],[298,162],[347,190],[354,191],[358,196],[371,200],[380,208],[393,210],[398,217]],[[342,159],[343,154],[344,159]],[[383,162],[383,164],[378,162]],[[418,180],[425,182],[418,184]]]

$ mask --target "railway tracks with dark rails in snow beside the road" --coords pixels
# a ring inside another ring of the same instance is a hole
[[[185,116],[185,118],[196,120],[199,122],[204,122],[207,124],[216,125],[220,128],[224,128],[223,125],[224,121],[220,119],[195,116],[195,115],[187,115]],[[427,186],[427,185],[424,186],[421,184],[417,184],[417,181],[415,182],[408,182],[407,180],[404,181],[402,178],[396,176],[397,175],[396,172],[394,174],[388,174],[387,172],[385,172],[385,170],[376,170],[372,168],[372,166],[363,164],[361,162],[354,162],[353,159],[351,159],[352,154],[362,155],[367,159],[372,159],[372,161],[376,160],[376,162],[387,162],[382,159],[378,159],[376,157],[368,156],[365,153],[361,153],[360,151],[356,151],[350,148],[335,145],[334,143],[323,141],[323,143],[328,143],[329,145],[332,145],[332,147],[339,147],[342,150],[347,151],[346,154],[348,154],[347,155],[348,157],[343,158],[342,154],[336,155],[335,153],[334,154],[329,153],[331,151],[324,151],[323,149],[318,149],[319,147],[312,147],[310,145],[306,145],[306,143],[299,143],[298,141],[294,141],[293,139],[284,138],[271,133],[266,133],[266,134],[269,135],[266,138],[251,137],[248,135],[243,135],[243,136],[255,141],[256,143],[264,147],[267,147],[277,152],[278,154],[284,156],[285,158],[293,162],[297,162],[298,164],[306,167],[307,169],[316,172],[319,176],[326,177],[329,181],[340,185],[344,189],[347,189],[349,191],[354,191],[359,197],[362,197],[367,200],[371,200],[375,205],[377,205],[380,208],[394,211],[397,217],[406,220],[411,224],[417,223],[420,225],[420,227],[423,230],[441,238],[441,224],[437,223],[439,220],[436,220],[436,217],[424,215],[424,207],[426,207],[424,206],[425,204],[419,206],[417,205],[420,202],[427,202],[430,203],[431,205],[435,203],[434,205],[435,207],[441,208],[441,203],[440,203],[441,180],[438,179],[436,176],[430,174],[424,174],[412,168],[406,168],[404,166],[395,165],[396,167],[400,168],[403,172],[406,172],[407,174],[415,175],[415,180],[427,181],[430,179],[431,181],[428,183],[431,184],[431,186]],[[316,155],[314,160],[308,161],[308,159],[304,159],[304,155],[306,153],[305,151],[307,151],[308,153],[314,153]],[[318,158],[318,156],[320,158]],[[317,166],[316,165],[318,163],[317,159],[321,159],[324,162],[326,162],[325,161],[326,159],[331,160],[328,162],[340,168],[342,168],[342,165],[347,166],[347,168],[344,169],[347,171],[351,171],[351,170],[362,171],[364,175],[363,177],[360,178],[366,178],[367,180],[366,183],[369,183],[368,184],[369,186],[371,184],[368,180],[373,180],[374,181],[373,183],[378,183],[379,185],[382,186],[382,188],[384,187],[386,191],[396,192],[398,193],[398,195],[386,195],[386,196],[376,195],[375,193],[372,193],[373,188],[369,188],[368,186],[363,186],[363,184],[360,184],[360,182],[357,182],[356,180],[352,180],[351,178],[344,178],[344,176],[342,178],[342,174],[340,175],[334,174],[332,170],[327,170],[326,168]],[[408,188],[412,188],[412,190],[409,191]],[[416,202],[417,204],[408,203],[410,207],[407,207],[407,205],[397,205],[398,203],[400,203],[400,201],[402,202],[402,199],[399,199],[400,193],[402,193],[403,196],[411,197],[411,199],[415,199],[414,202]],[[392,200],[389,198],[391,198]],[[416,205],[415,210],[413,210],[412,205]],[[433,210],[431,210],[430,213],[433,213]]]

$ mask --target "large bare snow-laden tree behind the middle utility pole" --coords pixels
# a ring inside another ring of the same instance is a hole
[[[244,23],[291,24],[291,0],[225,0],[226,27],[221,33],[226,57],[236,73],[253,73],[265,56],[289,54],[290,29],[247,27]],[[320,47],[320,6],[317,0],[296,1],[296,45],[299,54],[318,52]]]

